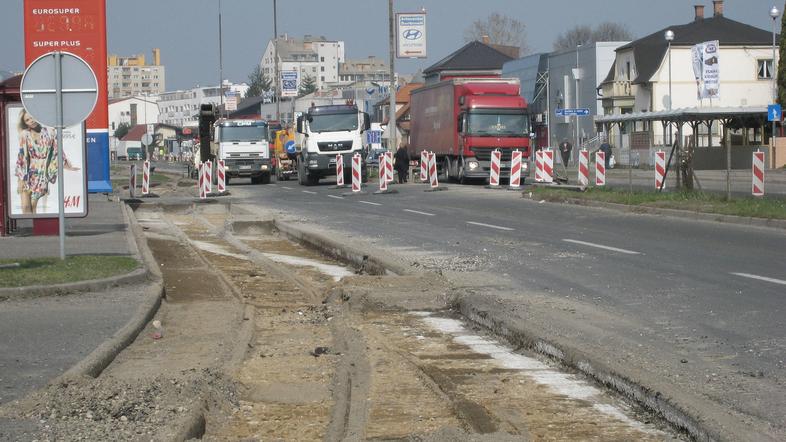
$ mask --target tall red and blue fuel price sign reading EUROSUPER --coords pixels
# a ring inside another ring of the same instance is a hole
[[[78,55],[98,80],[98,100],[87,118],[87,180],[90,192],[111,192],[107,105],[106,1],[24,0],[25,66],[52,51]]]

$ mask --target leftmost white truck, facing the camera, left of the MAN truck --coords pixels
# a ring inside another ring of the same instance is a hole
[[[262,120],[218,120],[213,126],[211,153],[224,160],[230,178],[251,178],[252,184],[268,184],[270,160],[268,126]],[[215,174],[214,174],[215,175]]]

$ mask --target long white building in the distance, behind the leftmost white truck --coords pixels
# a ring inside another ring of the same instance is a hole
[[[242,99],[248,92],[246,83],[232,83],[224,80],[223,88],[219,86],[195,87],[183,91],[164,92],[158,100],[158,122],[177,127],[199,126],[198,113],[202,104],[212,103],[219,106],[223,100],[221,91],[231,91]]]

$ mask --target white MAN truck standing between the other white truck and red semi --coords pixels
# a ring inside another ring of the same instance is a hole
[[[363,133],[371,126],[369,116],[354,104],[311,106],[297,119],[295,144],[298,181],[313,186],[320,178],[336,174],[336,155],[341,154],[347,180],[352,174],[352,156],[361,155],[363,181],[367,179],[368,152]]]

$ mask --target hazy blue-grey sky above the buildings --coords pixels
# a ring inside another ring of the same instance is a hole
[[[724,15],[772,28],[769,10],[783,0],[726,0]],[[0,70],[24,69],[23,0],[2,0]],[[67,5],[69,0],[62,0]],[[130,56],[161,49],[166,89],[218,84],[219,0],[106,0],[109,53]],[[273,0],[222,0],[224,78],[243,82],[273,36]],[[557,36],[576,25],[623,23],[635,38],[693,20],[694,4],[710,0],[394,0],[395,12],[427,12],[427,59],[397,60],[396,71],[414,73],[464,45],[473,21],[499,12],[523,22],[530,52],[548,52]],[[389,57],[385,0],[279,0],[278,32],[343,40],[347,58]],[[778,23],[780,25],[780,23]]]

